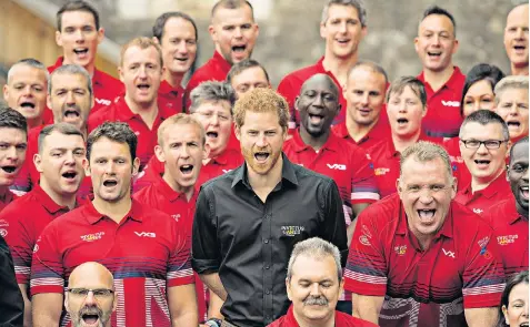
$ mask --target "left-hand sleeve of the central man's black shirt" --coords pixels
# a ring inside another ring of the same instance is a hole
[[[214,211],[207,193],[206,188],[199,193],[193,217],[191,265],[198,274],[217,273],[221,262]]]

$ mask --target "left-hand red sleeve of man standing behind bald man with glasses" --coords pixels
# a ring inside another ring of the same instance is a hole
[[[56,239],[59,236],[53,223],[37,239],[31,263],[31,295],[64,292],[62,254]]]

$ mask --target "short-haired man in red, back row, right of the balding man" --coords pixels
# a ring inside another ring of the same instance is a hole
[[[204,81],[224,81],[232,64],[252,54],[259,35],[252,4],[247,0],[220,0],[211,10],[208,31],[216,44],[216,52],[188,82],[184,100],[187,109],[194,88]]]

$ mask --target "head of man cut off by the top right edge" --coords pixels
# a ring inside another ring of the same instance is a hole
[[[528,76],[528,6],[516,6],[506,18],[504,49],[512,75]]]

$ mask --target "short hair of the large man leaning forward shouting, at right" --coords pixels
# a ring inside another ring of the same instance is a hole
[[[447,151],[442,146],[427,141],[419,141],[401,152],[399,161],[400,176],[403,173],[403,166],[407,160],[411,156],[421,163],[432,162],[439,157],[442,160],[448,175],[452,176],[451,160],[449,159]]]

